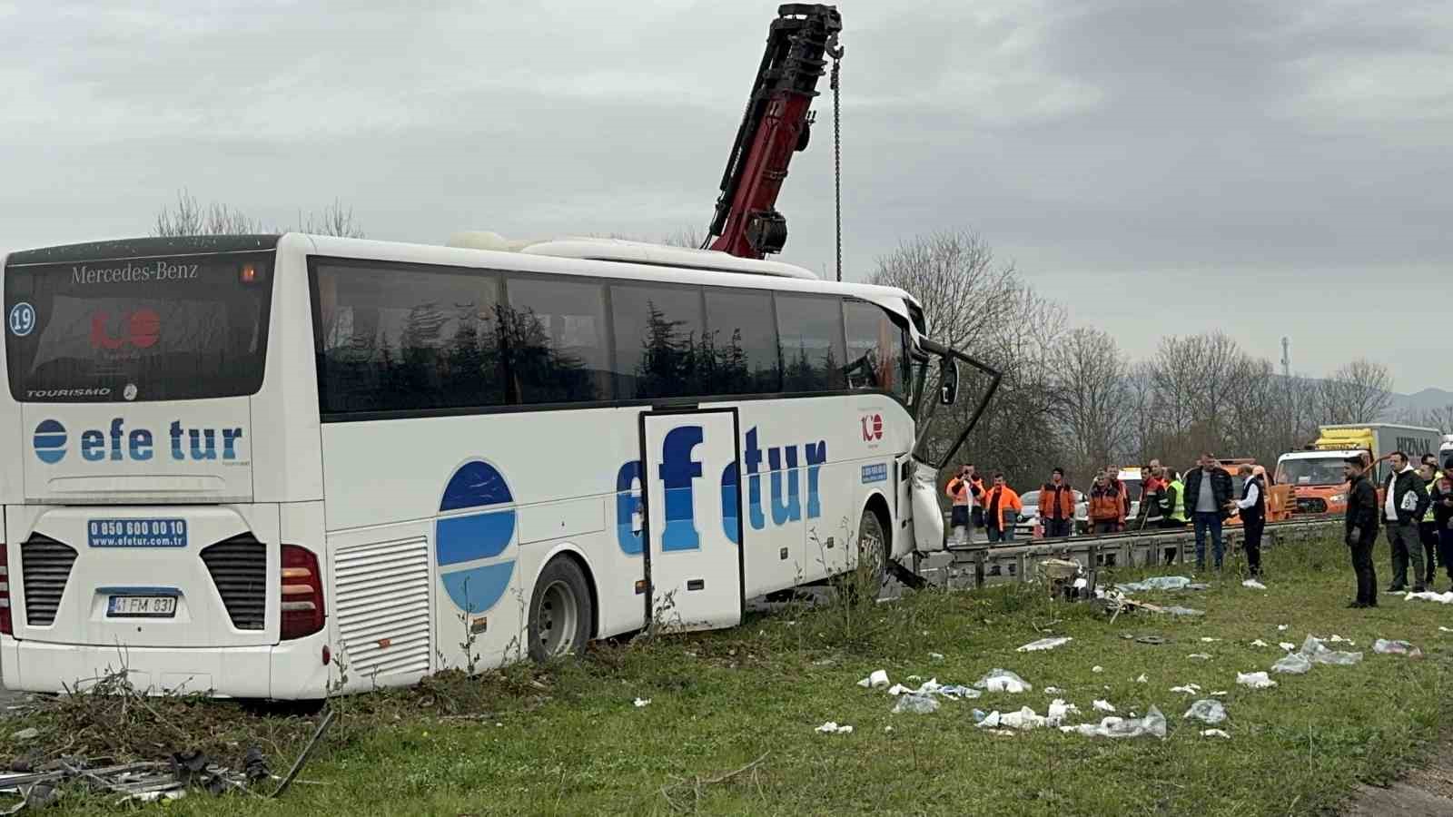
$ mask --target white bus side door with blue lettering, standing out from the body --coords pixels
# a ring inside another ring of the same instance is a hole
[[[742,618],[737,410],[645,411],[647,621],[673,629]]]

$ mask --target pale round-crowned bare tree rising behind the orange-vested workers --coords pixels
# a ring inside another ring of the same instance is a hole
[[[1049,350],[1052,411],[1080,475],[1130,454],[1135,406],[1130,363],[1114,337],[1075,329]]]

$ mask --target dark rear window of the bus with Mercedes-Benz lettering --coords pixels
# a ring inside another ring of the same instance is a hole
[[[262,387],[273,253],[10,265],[10,394],[196,400]]]

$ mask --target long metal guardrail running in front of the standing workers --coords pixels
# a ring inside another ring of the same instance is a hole
[[[1261,548],[1273,548],[1279,544],[1306,541],[1340,529],[1343,518],[1340,515],[1319,515],[1316,518],[1295,518],[1287,522],[1270,522],[1261,538]],[[1225,557],[1229,561],[1241,551],[1245,529],[1239,525],[1222,529]],[[1209,545],[1209,544],[1207,544]],[[1004,581],[1030,581],[1036,577],[1036,566],[1051,558],[1075,560],[1085,570],[1104,567],[1157,567],[1170,564],[1186,564],[1196,558],[1196,534],[1190,528],[1177,531],[1145,531],[1129,534],[1112,534],[1103,536],[1072,536],[1068,539],[1035,539],[1026,545],[987,545],[974,544],[966,547],[950,547],[946,552],[950,557],[947,570],[947,584],[959,587],[984,587]],[[920,570],[926,557],[915,558],[914,573],[923,576]]]

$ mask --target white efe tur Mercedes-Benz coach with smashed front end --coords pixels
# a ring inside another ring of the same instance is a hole
[[[10,689],[407,685],[943,545],[911,410],[968,358],[898,289],[288,234],[13,253],[4,310]]]

